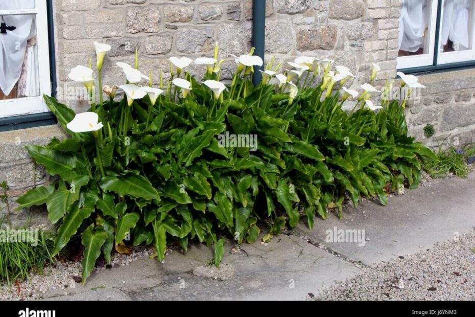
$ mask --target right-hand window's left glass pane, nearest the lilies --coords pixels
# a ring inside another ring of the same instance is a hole
[[[428,0],[404,0],[399,21],[399,54],[412,56],[429,53],[431,6]]]

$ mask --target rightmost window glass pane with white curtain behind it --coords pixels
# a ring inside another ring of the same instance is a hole
[[[440,52],[470,48],[472,0],[445,0],[440,25]]]

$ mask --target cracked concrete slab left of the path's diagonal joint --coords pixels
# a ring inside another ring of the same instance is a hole
[[[93,273],[87,283],[43,295],[46,300],[305,300],[324,286],[360,270],[293,234],[267,245],[243,244],[237,253],[227,240],[221,266],[207,263],[211,248],[193,245],[186,255],[173,252],[165,262],[148,257],[127,266]]]

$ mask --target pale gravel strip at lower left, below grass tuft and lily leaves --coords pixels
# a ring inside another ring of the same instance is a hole
[[[96,266],[94,271],[126,266],[140,257],[150,256],[154,253],[152,247],[131,247],[131,254],[113,253],[110,266]],[[0,301],[11,300],[38,300],[41,294],[51,290],[62,289],[67,293],[68,288],[74,288],[76,283],[81,283],[80,262],[56,262],[47,266],[41,273],[32,273],[30,278],[13,284],[0,285]]]

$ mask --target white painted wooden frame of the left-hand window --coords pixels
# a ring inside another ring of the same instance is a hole
[[[43,100],[43,94],[51,96],[50,53],[48,40],[47,7],[45,0],[36,0],[34,9],[0,10],[0,15],[36,15],[36,34],[38,45],[38,72],[40,95],[0,100],[0,118],[40,114],[50,111]]]

